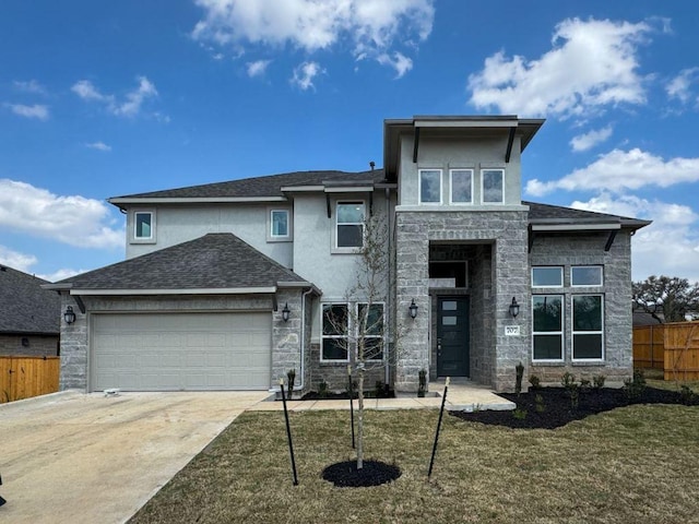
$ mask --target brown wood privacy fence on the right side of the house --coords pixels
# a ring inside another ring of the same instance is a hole
[[[662,369],[665,380],[699,380],[699,322],[633,327],[633,366]]]

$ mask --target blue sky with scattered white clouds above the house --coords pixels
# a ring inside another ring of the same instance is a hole
[[[3,0],[0,263],[123,258],[106,199],[381,165],[382,121],[547,119],[523,198],[652,219],[633,279],[699,281],[689,1]]]

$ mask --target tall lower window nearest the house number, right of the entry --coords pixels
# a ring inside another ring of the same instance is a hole
[[[562,295],[534,295],[532,297],[532,358],[534,360],[562,360]]]

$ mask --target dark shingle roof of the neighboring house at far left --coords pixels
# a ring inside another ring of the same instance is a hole
[[[58,335],[61,299],[47,281],[0,265],[0,333]]]

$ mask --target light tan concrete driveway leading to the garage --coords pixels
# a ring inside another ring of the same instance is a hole
[[[0,522],[120,523],[266,392],[63,392],[0,405]]]

